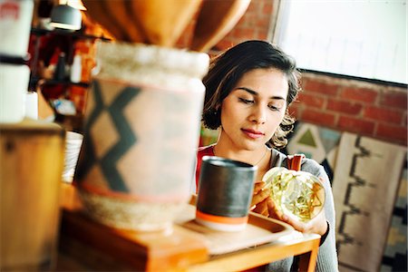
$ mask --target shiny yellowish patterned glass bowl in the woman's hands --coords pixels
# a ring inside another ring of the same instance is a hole
[[[265,173],[262,181],[270,189],[277,209],[288,217],[307,222],[325,205],[323,184],[306,171],[275,167]]]

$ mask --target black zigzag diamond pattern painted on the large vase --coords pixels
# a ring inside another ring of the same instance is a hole
[[[137,136],[131,130],[131,125],[126,121],[123,110],[127,104],[133,100],[141,91],[140,88],[125,87],[119,92],[118,96],[110,105],[105,105],[102,99],[101,86],[98,81],[92,83],[94,107],[85,122],[84,131],[86,131],[84,142],[84,160],[78,165],[77,177],[81,182],[88,172],[92,169],[95,163],[101,165],[101,169],[105,179],[108,181],[111,189],[115,191],[127,192],[125,182],[121,178],[121,174],[116,169],[116,162],[121,159],[124,153],[137,141]],[[106,154],[98,160],[95,148],[92,143],[91,129],[93,124],[98,120],[102,112],[108,112],[112,118],[112,122],[120,136],[120,141],[116,142]]]

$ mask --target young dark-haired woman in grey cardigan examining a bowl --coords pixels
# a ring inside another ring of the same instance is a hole
[[[298,231],[321,235],[316,271],[333,272],[338,270],[335,209],[324,168],[315,160],[302,160],[301,170],[319,177],[326,193],[324,212],[307,224],[279,214],[269,189],[263,189],[265,184],[260,181],[272,167],[287,165],[287,156],[277,149],[287,144],[287,133],[293,129],[295,120],[287,108],[296,100],[298,81],[295,61],[267,42],[244,42],[213,59],[203,79],[206,97],[202,116],[204,125],[213,130],[220,127],[220,134],[216,144],[199,149],[196,182],[205,155],[257,165],[252,210],[286,221]],[[289,270],[292,260],[272,263],[269,268]]]

